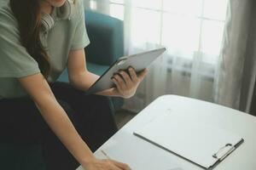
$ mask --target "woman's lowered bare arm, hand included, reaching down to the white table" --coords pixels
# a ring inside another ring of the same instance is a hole
[[[19,82],[32,97],[45,122],[83,167],[88,170],[130,169],[127,165],[116,161],[96,160],[87,144],[80,138],[79,133],[73,127],[61,105],[55,99],[48,82],[42,74],[19,78]]]

